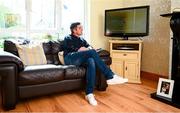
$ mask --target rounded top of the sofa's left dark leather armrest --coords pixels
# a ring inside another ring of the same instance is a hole
[[[24,70],[24,64],[21,59],[12,53],[0,51],[0,64],[14,63],[18,67],[18,71]]]

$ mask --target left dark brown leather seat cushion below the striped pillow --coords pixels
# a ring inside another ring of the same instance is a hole
[[[35,65],[27,66],[18,75],[18,85],[35,85],[64,80],[64,66]]]

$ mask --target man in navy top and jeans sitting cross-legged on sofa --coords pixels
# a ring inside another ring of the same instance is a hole
[[[67,65],[86,65],[86,99],[91,105],[97,105],[93,95],[95,85],[96,66],[105,75],[108,84],[121,84],[128,81],[115,75],[111,69],[101,60],[96,50],[93,49],[83,38],[81,23],[75,22],[70,26],[71,34],[64,38],[64,61]]]

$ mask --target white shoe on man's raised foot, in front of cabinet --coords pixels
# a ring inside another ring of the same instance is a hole
[[[107,84],[114,85],[114,84],[123,84],[128,82],[127,78],[122,78],[118,75],[114,75],[112,79],[107,80]]]

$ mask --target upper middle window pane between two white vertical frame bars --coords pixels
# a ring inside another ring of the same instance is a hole
[[[56,1],[32,0],[31,29],[53,29],[56,27]],[[48,6],[48,7],[47,7]]]

